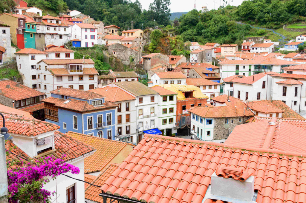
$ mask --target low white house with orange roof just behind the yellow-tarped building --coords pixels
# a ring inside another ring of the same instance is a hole
[[[150,87],[155,85],[171,85],[171,84],[179,84],[185,85],[186,78],[182,72],[161,72],[161,73],[154,73],[151,75]]]

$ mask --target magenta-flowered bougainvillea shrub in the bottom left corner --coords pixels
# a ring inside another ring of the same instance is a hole
[[[63,156],[64,157],[64,156]],[[63,158],[62,157],[62,158]],[[9,203],[48,203],[50,195],[54,192],[43,189],[43,185],[49,182],[47,177],[54,179],[61,173],[71,172],[78,174],[80,169],[65,163],[61,158],[48,156],[35,160],[12,160],[7,162],[16,166],[8,169]]]

